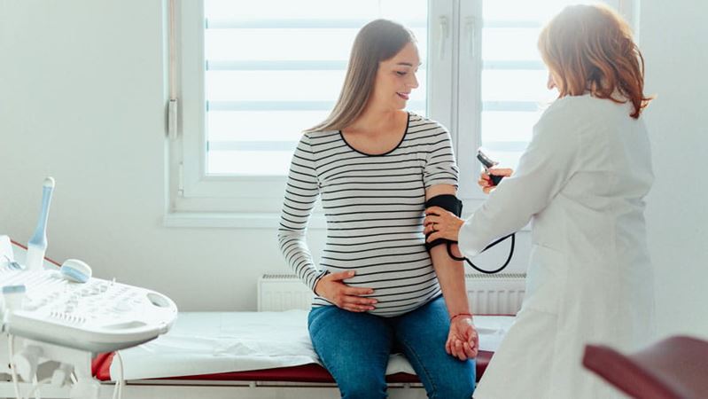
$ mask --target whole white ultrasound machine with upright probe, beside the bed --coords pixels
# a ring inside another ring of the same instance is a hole
[[[43,387],[68,387],[70,398],[93,399],[105,387],[92,377],[93,357],[166,333],[177,307],[161,293],[94,278],[78,259],[60,267],[45,262],[53,189],[47,177],[26,254],[13,251],[9,237],[0,235],[0,372],[12,376],[17,398],[39,397]],[[55,367],[39,379],[38,369],[48,362]],[[113,397],[121,394],[120,380],[114,389]]]

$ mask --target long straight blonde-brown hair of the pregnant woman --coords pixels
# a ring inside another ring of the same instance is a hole
[[[416,37],[408,28],[391,20],[372,20],[354,39],[344,85],[330,116],[305,132],[340,130],[359,115],[369,101],[378,71],[378,64],[393,58]]]

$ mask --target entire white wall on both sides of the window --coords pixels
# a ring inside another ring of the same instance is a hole
[[[27,241],[43,177],[54,176],[49,256],[82,258],[97,277],[167,293],[183,310],[254,309],[258,276],[286,270],[275,229],[161,224],[162,7],[157,0],[0,0],[0,233]],[[657,174],[648,223],[662,334],[708,335],[706,15],[700,0],[642,2],[647,89],[659,94],[646,119]],[[311,237],[318,252],[323,231]],[[517,264],[526,254],[521,240]]]

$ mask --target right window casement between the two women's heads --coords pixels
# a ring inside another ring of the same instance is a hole
[[[461,168],[459,196],[484,198],[476,182],[479,146],[501,165],[516,168],[531,140],[533,125],[557,97],[548,90],[548,71],[537,50],[546,20],[568,4],[582,0],[462,1],[458,17],[460,74],[455,104],[457,158]],[[604,3],[630,15],[631,2]],[[626,17],[628,18],[628,17]],[[632,20],[628,18],[628,20]],[[473,208],[473,207],[472,207]]]

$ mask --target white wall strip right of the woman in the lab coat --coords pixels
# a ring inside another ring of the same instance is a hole
[[[659,333],[708,336],[708,3],[643,1],[645,118],[656,183],[648,199]]]

